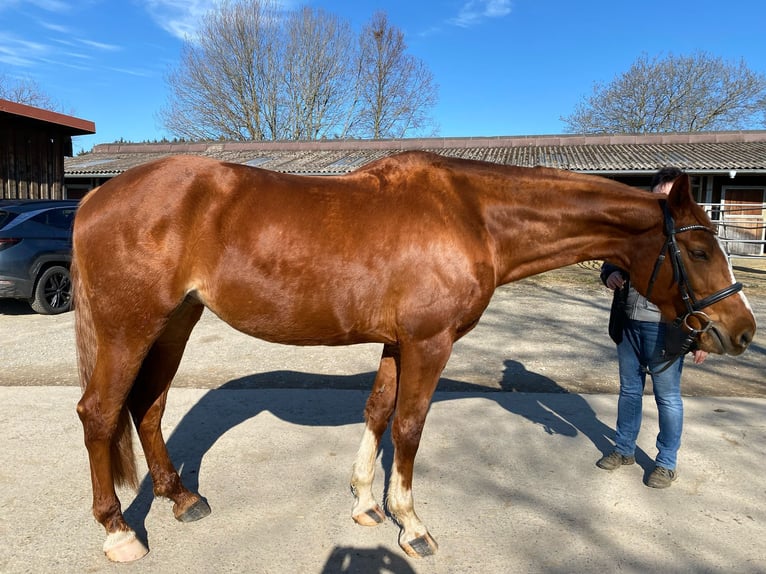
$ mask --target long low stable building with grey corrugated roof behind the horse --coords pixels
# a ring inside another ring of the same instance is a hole
[[[81,197],[131,167],[175,154],[212,157],[284,173],[339,175],[410,149],[506,165],[568,169],[645,188],[657,169],[677,166],[692,176],[695,199],[706,204],[713,219],[721,222],[721,234],[731,242],[732,252],[763,254],[766,131],[102,144],[90,154],[67,160],[66,182],[68,195]]]

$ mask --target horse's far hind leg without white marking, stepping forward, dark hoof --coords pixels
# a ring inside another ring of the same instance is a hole
[[[178,371],[186,342],[203,309],[200,303],[187,299],[173,313],[146,355],[128,397],[130,413],[138,429],[152,476],[154,494],[171,499],[174,502],[173,514],[182,522],[204,518],[210,514],[210,507],[181,482],[168,455],[161,422],[170,383]]]

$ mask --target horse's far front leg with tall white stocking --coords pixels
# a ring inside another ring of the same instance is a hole
[[[388,426],[396,404],[398,371],[398,347],[384,346],[375,384],[364,410],[364,434],[351,475],[351,491],[354,493],[351,517],[362,526],[375,526],[386,519],[372,494],[372,482],[375,478],[375,459],[380,446],[380,437]]]

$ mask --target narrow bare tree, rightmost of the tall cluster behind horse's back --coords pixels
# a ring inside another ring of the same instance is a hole
[[[376,13],[359,37],[357,100],[349,132],[373,139],[435,131],[429,111],[438,87],[426,65],[407,53],[404,33]]]

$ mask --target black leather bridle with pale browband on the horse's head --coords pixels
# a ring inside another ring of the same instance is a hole
[[[686,306],[686,314],[679,315],[673,321],[673,326],[680,328],[684,333],[684,339],[681,342],[681,348],[677,354],[674,354],[669,358],[666,365],[662,367],[660,371],[654,371],[655,373],[664,371],[678,358],[685,355],[690,349],[694,341],[703,333],[706,333],[713,325],[713,321],[708,317],[706,313],[702,311],[706,307],[710,307],[715,303],[718,303],[722,299],[726,299],[730,295],[734,295],[742,290],[742,283],[736,282],[728,287],[725,287],[719,291],[716,291],[712,295],[708,295],[703,299],[697,299],[694,296],[694,291],[689,284],[689,276],[686,273],[683,259],[681,258],[681,249],[678,247],[676,241],[676,235],[684,233],[685,231],[706,231],[716,235],[714,229],[706,225],[685,225],[683,227],[676,228],[676,223],[673,220],[673,216],[670,214],[666,201],[661,202],[662,212],[665,217],[665,236],[667,239],[662,246],[657,262],[654,264],[654,270],[652,276],[649,279],[649,287],[647,288],[646,298],[649,299],[654,288],[654,283],[657,280],[662,264],[669,256],[670,263],[673,266],[673,281],[678,284],[678,290],[681,292],[681,299]],[[701,328],[697,329],[689,323],[690,319],[695,319],[701,325]]]

